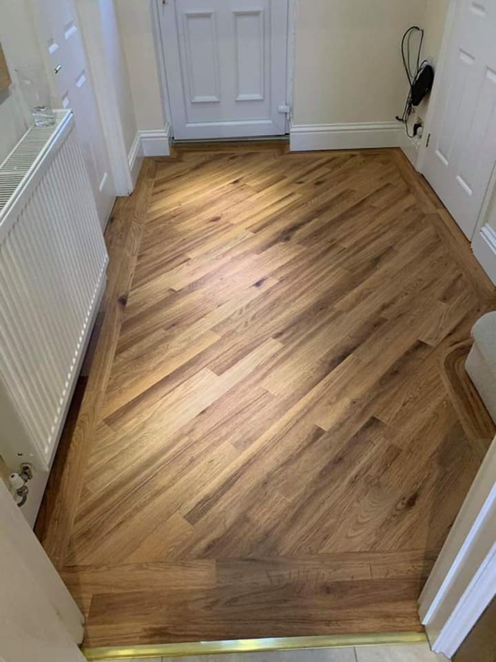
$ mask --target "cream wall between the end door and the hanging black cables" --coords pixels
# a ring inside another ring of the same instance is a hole
[[[394,121],[406,95],[399,44],[426,0],[300,0],[293,123]]]

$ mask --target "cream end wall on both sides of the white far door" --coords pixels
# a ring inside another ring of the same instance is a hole
[[[116,3],[140,130],[164,125],[154,1]],[[298,0],[293,123],[393,122],[407,92],[402,34],[427,18],[435,27],[426,46],[434,51],[448,1]]]

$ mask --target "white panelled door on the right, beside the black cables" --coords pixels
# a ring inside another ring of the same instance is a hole
[[[437,80],[424,175],[466,236],[496,162],[496,1],[458,0]]]

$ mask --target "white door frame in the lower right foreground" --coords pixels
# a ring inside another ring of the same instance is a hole
[[[433,650],[451,659],[496,594],[496,439],[419,599]]]

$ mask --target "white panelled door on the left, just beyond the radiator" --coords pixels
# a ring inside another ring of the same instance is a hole
[[[71,108],[96,208],[105,227],[115,200],[110,159],[73,0],[34,0],[39,33],[54,70],[56,92]]]

